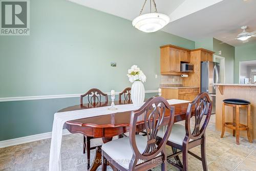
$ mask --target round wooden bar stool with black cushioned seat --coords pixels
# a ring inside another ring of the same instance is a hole
[[[225,122],[225,105],[232,106],[236,108],[236,119],[233,116],[233,122]],[[240,108],[247,108],[247,125],[239,123]],[[225,127],[233,130],[233,136],[237,136],[237,144],[239,145],[239,133],[240,131],[247,131],[248,140],[252,143],[250,134],[250,115],[251,115],[251,105],[250,102],[243,99],[225,99],[222,104],[222,133],[221,138],[223,138],[225,133]]]

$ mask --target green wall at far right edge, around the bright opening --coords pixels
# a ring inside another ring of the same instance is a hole
[[[239,62],[256,60],[256,42],[236,47],[235,81],[239,83]]]

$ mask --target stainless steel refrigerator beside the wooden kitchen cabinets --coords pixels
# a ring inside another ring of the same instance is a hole
[[[220,81],[220,63],[204,61],[201,62],[201,92],[207,92],[213,102],[212,114],[216,111],[216,86],[214,83]]]

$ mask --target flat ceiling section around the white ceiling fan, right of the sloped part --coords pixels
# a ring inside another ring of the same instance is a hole
[[[248,32],[256,30],[255,0],[224,0],[169,23],[163,31],[195,41],[207,37],[228,41],[242,32],[241,26],[248,26]],[[255,41],[256,37],[252,37],[246,44]],[[244,45],[240,40],[228,41],[228,44]]]

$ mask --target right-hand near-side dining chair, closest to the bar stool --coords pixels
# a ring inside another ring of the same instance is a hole
[[[187,156],[190,154],[202,161],[203,170],[207,170],[206,153],[205,153],[205,130],[208,125],[211,115],[212,101],[207,93],[200,93],[191,103],[188,104],[185,126],[181,124],[174,124],[172,133],[170,134],[167,145],[171,146],[174,154],[167,156],[167,158],[174,158],[174,161],[168,160],[168,163],[176,166],[180,170],[188,170]],[[195,119],[195,120],[194,120]],[[190,125],[190,120],[194,123]],[[163,129],[162,129],[163,130]],[[162,130],[158,133],[160,139]],[[189,149],[201,146],[201,157],[189,151]],[[177,149],[180,151],[177,152]],[[182,154],[181,163],[179,154]]]

